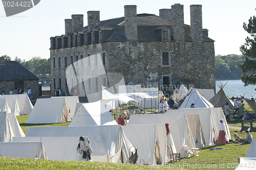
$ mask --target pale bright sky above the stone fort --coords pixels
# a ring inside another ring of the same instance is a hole
[[[137,5],[137,14],[159,15],[159,9],[170,9],[174,4],[184,5],[184,23],[190,25],[190,5],[202,5],[203,29],[215,40],[215,55],[242,53],[239,47],[249,36],[243,22],[256,15],[255,0],[41,0],[35,7],[6,17],[0,5],[0,56],[14,60],[30,60],[32,57],[50,58],[50,37],[65,34],[65,19],[72,14],[83,14],[87,26],[87,11],[100,11],[100,20],[124,16],[125,5]]]

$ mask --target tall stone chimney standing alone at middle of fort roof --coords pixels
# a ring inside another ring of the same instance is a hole
[[[124,6],[124,30],[127,40],[138,40],[137,6]]]

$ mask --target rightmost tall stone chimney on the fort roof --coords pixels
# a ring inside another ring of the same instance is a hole
[[[190,33],[194,42],[203,42],[202,5],[190,5]]]

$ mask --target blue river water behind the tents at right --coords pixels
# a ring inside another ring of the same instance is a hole
[[[223,90],[225,93],[231,98],[234,96],[235,98],[240,95],[244,96],[245,98],[251,99],[252,96],[255,99],[256,98],[256,85],[248,85],[244,86],[244,83],[242,80],[216,80],[218,84],[226,84]],[[216,92],[218,92],[220,88],[216,84]]]

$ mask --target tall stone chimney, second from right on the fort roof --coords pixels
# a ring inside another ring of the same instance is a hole
[[[175,41],[185,41],[183,5],[172,5],[172,27]]]

